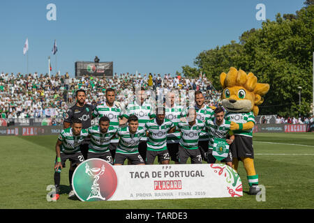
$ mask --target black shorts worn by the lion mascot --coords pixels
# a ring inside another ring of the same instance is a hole
[[[233,158],[241,160],[241,157],[250,157],[254,159],[253,138],[242,135],[234,135],[234,141],[230,145]]]

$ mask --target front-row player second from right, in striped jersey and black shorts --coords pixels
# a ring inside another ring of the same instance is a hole
[[[177,128],[181,131],[179,141],[179,164],[185,164],[188,157],[192,164],[202,164],[202,155],[198,148],[200,132],[204,130],[205,124],[196,119],[196,111],[193,107],[188,109],[187,121],[178,123]]]

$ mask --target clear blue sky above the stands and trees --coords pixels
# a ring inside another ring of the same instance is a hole
[[[75,61],[113,61],[114,72],[181,72],[203,50],[239,41],[244,31],[261,27],[255,18],[264,3],[266,18],[294,13],[305,0],[40,0],[0,1],[0,72],[27,72],[22,49],[29,38],[29,72],[75,74]],[[48,21],[47,4],[57,6]]]

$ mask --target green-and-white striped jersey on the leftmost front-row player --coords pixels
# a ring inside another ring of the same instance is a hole
[[[87,130],[82,129],[80,135],[75,136],[72,128],[66,128],[61,131],[58,139],[62,141],[60,146],[61,153],[77,153],[80,152],[80,144],[89,135]]]

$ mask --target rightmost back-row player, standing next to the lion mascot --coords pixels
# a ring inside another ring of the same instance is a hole
[[[214,118],[214,111],[208,105],[204,104],[204,95],[202,91],[195,91],[195,111],[197,119],[205,123],[210,118]],[[209,145],[209,134],[204,129],[200,133],[200,141],[198,142],[198,147],[200,148],[200,153],[202,154],[202,159],[207,161],[207,152]]]

